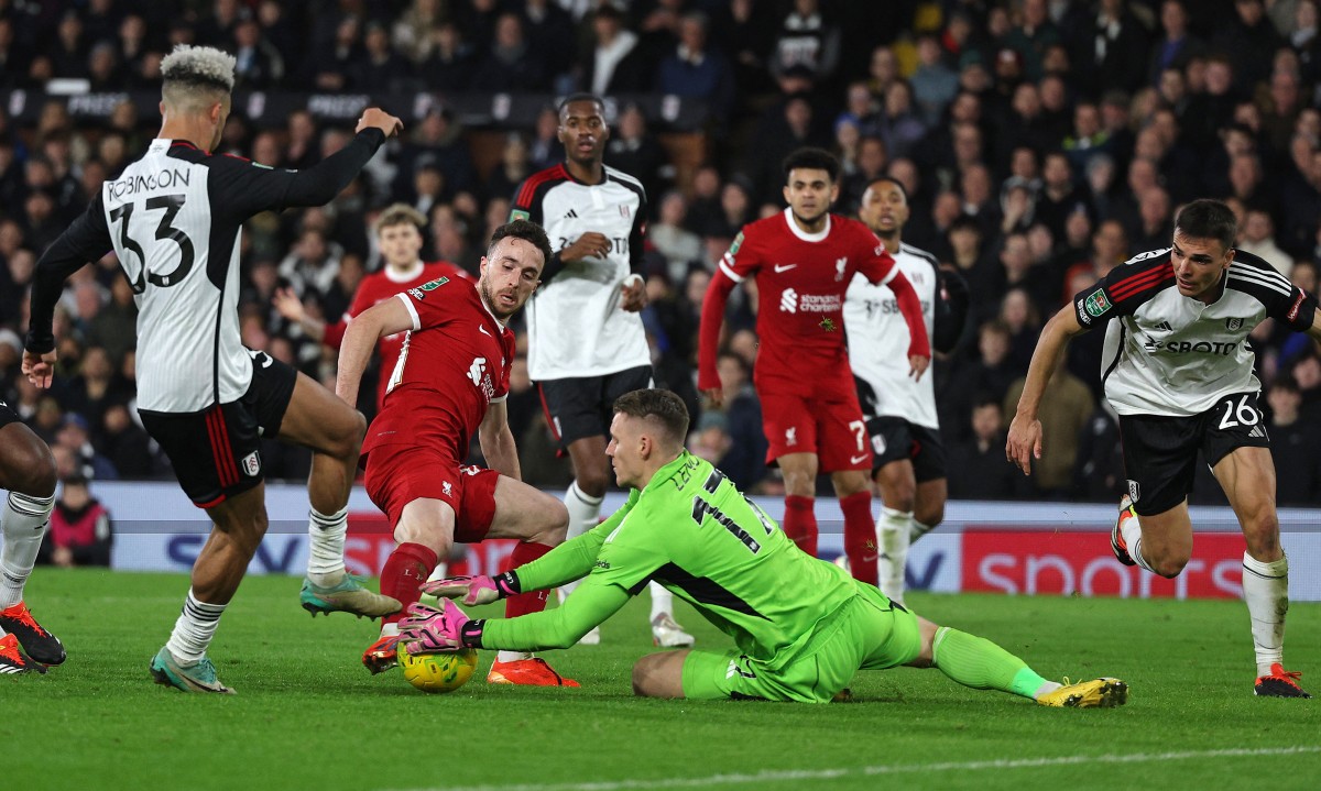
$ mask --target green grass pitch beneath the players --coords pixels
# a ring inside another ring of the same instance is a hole
[[[188,581],[37,569],[28,602],[65,640],[45,676],[0,676],[7,788],[1317,788],[1321,697],[1252,696],[1235,601],[919,596],[923,615],[991,638],[1048,677],[1114,675],[1129,704],[1036,706],[939,671],[860,673],[857,703],[637,700],[646,601],[596,647],[547,658],[581,689],[423,695],[358,663],[376,627],[306,615],[299,580],[252,577],[211,647],[232,697],[151,683]],[[498,607],[486,614],[498,615]],[[683,609],[700,646],[729,640]],[[1321,693],[1321,606],[1289,613],[1288,666]]]

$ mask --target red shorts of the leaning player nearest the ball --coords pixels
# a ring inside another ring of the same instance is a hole
[[[437,499],[454,510],[454,540],[474,544],[486,537],[495,518],[499,473],[464,466],[449,453],[410,445],[379,445],[367,457],[367,497],[399,524],[404,506]]]

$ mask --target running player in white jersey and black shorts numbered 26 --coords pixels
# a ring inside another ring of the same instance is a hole
[[[1119,413],[1128,495],[1111,549],[1124,565],[1177,577],[1193,555],[1188,494],[1198,453],[1243,528],[1243,600],[1256,650],[1255,691],[1310,697],[1284,662],[1289,561],[1275,512],[1271,440],[1248,334],[1267,317],[1321,339],[1316,297],[1255,255],[1235,251],[1238,223],[1219,201],[1174,218],[1173,246],[1133,256],[1074,297],[1041,331],[1005,454],[1026,474],[1041,458],[1037,408],[1065,346],[1106,327],[1106,399]],[[1114,320],[1114,321],[1112,321]]]

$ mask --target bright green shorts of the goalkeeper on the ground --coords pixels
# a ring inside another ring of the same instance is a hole
[[[914,660],[922,651],[917,617],[875,586],[855,585],[857,596],[771,660],[752,659],[737,648],[690,651],[683,663],[684,697],[830,703],[859,670]]]

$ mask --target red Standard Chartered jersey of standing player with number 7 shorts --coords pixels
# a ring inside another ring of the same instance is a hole
[[[853,273],[876,284],[898,273],[894,259],[863,223],[831,214],[823,231],[807,234],[787,209],[744,226],[720,269],[734,283],[757,279],[758,390],[804,395],[820,386],[853,387],[844,338],[844,292]],[[720,326],[708,324],[704,312],[697,384],[703,390],[720,387]]]

